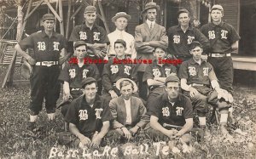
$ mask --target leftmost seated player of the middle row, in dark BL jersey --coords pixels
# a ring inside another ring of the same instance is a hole
[[[84,41],[78,41],[74,44],[74,54],[78,63],[70,63],[65,65],[59,80],[63,82],[63,99],[76,99],[83,94],[82,80],[87,77],[93,77],[99,80],[100,73],[95,64],[84,63],[84,57],[87,54],[87,45]],[[68,104],[61,107],[61,113],[66,115]]]

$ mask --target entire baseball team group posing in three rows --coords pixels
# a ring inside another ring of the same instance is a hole
[[[49,122],[55,121],[63,90],[61,114],[68,130],[58,133],[61,145],[97,147],[106,139],[125,143],[147,137],[168,142],[172,151],[178,142],[183,151],[189,151],[186,148],[195,127],[201,130],[201,138],[212,135],[206,117],[211,107],[220,114],[219,133],[230,135],[231,52],[238,48],[240,37],[222,20],[223,7],[213,5],[212,22],[201,27],[193,26],[187,9],[179,9],[178,25],[166,30],[156,22],[159,13],[156,3],[146,3],[142,12],[145,20],[132,36],[125,31],[131,15],[119,12],[112,18],[116,29],[107,34],[95,23],[96,8],[87,6],[84,23],[73,28],[68,40],[54,31],[54,14],[44,14],[44,30],[15,46],[32,65],[27,129],[37,131],[43,103]],[[26,54],[27,48],[32,48],[33,54]],[[70,57],[77,62],[68,63]],[[86,64],[84,58],[108,63]],[[127,59],[152,63],[113,62]],[[167,59],[183,62],[160,62]]]

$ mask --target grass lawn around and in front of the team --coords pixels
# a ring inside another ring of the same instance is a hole
[[[19,78],[19,69],[16,68],[15,78]],[[0,66],[0,83],[3,83],[6,67]],[[20,78],[19,78],[20,79]],[[70,148],[57,144],[56,133],[63,131],[64,122],[60,110],[56,111],[56,122],[50,124],[47,122],[45,109],[41,111],[38,117],[38,126],[43,130],[39,133],[31,133],[26,130],[29,119],[28,105],[29,85],[26,83],[15,83],[12,88],[0,88],[0,158],[49,158],[50,155],[61,156],[60,151],[66,158],[68,153],[72,152]],[[212,137],[202,140],[200,143],[193,144],[192,153],[180,153],[173,155],[167,151],[164,155],[164,146],[160,146],[160,154],[157,156],[156,146],[150,139],[137,139],[133,143],[117,145],[109,142],[111,149],[105,153],[103,158],[113,158],[111,150],[118,146],[119,154],[115,158],[256,158],[256,91],[253,88],[241,86],[235,87],[234,95],[234,116],[236,123],[230,125],[229,131],[233,138],[224,139],[218,133],[218,126],[211,125]],[[154,145],[153,145],[154,144]],[[132,146],[130,146],[132,145]],[[147,148],[148,145],[148,148]],[[52,149],[52,148],[55,149]],[[132,149],[130,149],[132,147]],[[108,147],[107,147],[108,148]],[[58,153],[50,153],[56,152]],[[106,149],[106,147],[105,147]],[[148,149],[148,150],[147,150]],[[126,151],[125,151],[126,150]],[[104,148],[99,150],[102,154]],[[146,153],[146,151],[148,153]],[[97,151],[88,152],[97,155]],[[133,155],[127,155],[131,152]],[[84,158],[86,151],[73,151],[70,158]],[[126,155],[125,155],[126,154]],[[95,157],[93,154],[87,158]],[[125,155],[125,156],[124,156]]]

